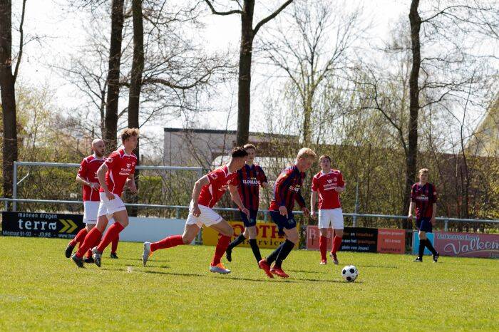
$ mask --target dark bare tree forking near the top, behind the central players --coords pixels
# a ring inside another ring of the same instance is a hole
[[[217,11],[214,2],[205,0],[207,6],[210,7],[212,14],[215,15],[232,15],[239,14],[241,16],[241,43],[239,56],[239,93],[237,96],[237,145],[244,145],[249,138],[249,115],[250,96],[251,96],[251,65],[254,37],[264,24],[274,19],[279,13],[284,10],[293,0],[284,1],[272,14],[265,17],[257,23],[253,28],[254,0],[234,1],[238,9],[229,11]]]

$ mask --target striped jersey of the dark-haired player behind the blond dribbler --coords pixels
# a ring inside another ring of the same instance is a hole
[[[237,180],[242,204],[247,209],[258,209],[260,185],[268,182],[262,167],[245,165],[237,171]]]

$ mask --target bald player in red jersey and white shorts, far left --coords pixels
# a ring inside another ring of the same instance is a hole
[[[66,247],[65,254],[67,258],[71,257],[71,254],[73,254],[73,249],[76,247],[76,244],[78,244],[78,247],[81,246],[86,234],[88,234],[97,223],[97,212],[99,202],[101,202],[101,198],[99,197],[99,188],[101,186],[98,182],[97,170],[105,160],[104,151],[106,150],[106,145],[104,145],[104,141],[100,139],[93,140],[92,150],[93,154],[83,158],[81,161],[80,169],[76,175],[76,182],[80,183],[83,188],[83,222],[86,226],[76,234],[76,237],[74,237],[74,239],[69,242],[68,247]],[[118,258],[118,256],[116,256],[118,240],[119,238],[113,240],[111,258]],[[91,251],[88,250],[84,261],[86,263],[93,262],[91,256]]]

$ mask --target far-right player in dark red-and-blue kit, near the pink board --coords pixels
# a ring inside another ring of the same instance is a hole
[[[419,182],[412,185],[411,204],[409,205],[408,219],[412,222],[413,207],[416,205],[416,227],[419,230],[419,252],[414,261],[423,261],[425,247],[433,254],[433,262],[438,261],[440,256],[433,248],[431,241],[426,237],[426,233],[433,232],[436,216],[437,192],[435,186],[428,182],[428,168],[421,168],[418,172]]]

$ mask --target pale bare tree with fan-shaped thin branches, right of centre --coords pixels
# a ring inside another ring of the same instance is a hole
[[[361,35],[360,15],[358,8],[344,12],[324,1],[301,1],[292,6],[291,14],[282,15],[275,31],[269,31],[264,46],[267,56],[299,95],[304,145],[312,142],[318,94],[326,92],[335,71],[347,66],[349,48]]]

